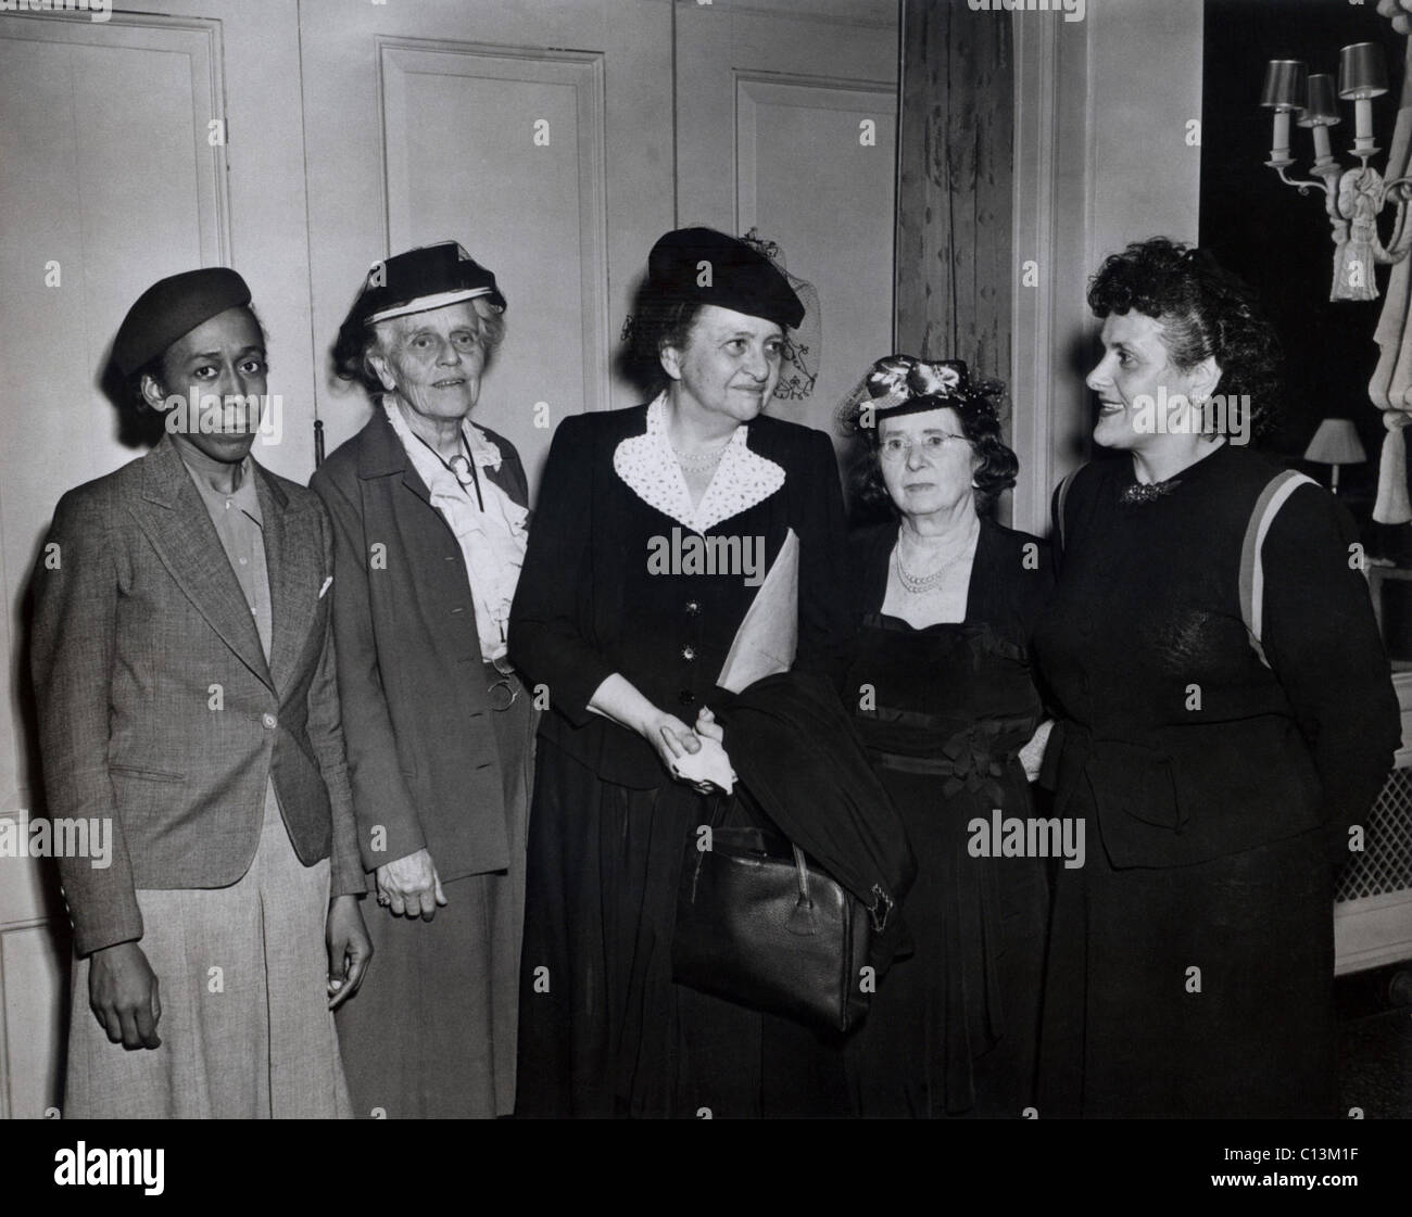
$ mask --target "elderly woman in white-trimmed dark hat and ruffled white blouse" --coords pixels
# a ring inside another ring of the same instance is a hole
[[[373,416],[312,486],[335,529],[333,630],[376,978],[340,1015],[356,1114],[514,1110],[538,714],[507,658],[527,539],[510,440],[470,421],[504,333],[455,243],[373,267],[335,347]]]

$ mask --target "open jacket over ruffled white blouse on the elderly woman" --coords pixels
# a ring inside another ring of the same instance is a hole
[[[501,453],[487,476],[525,505],[520,455],[481,429]],[[333,518],[333,633],[363,865],[426,849],[442,881],[504,870],[500,758],[450,525],[381,408],[309,484]]]

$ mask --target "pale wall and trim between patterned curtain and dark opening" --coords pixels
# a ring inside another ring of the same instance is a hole
[[[1084,292],[1128,241],[1195,241],[1202,117],[1202,6],[1108,0],[1083,21],[1015,13],[1015,291],[1012,400],[1017,528],[1049,531],[1049,496],[1082,463],[1093,424],[1083,376],[1097,325]]]

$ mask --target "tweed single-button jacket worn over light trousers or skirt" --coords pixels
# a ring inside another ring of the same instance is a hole
[[[319,500],[254,464],[270,659],[169,436],[65,494],[34,576],[47,813],[112,820],[112,863],[61,858],[88,954],[138,940],[137,888],[216,888],[250,868],[275,795],[299,861],[361,891],[339,726]]]

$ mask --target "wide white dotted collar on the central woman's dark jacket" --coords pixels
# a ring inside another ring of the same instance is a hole
[[[647,408],[647,431],[624,439],[613,452],[613,469],[644,503],[692,532],[709,528],[762,503],[785,484],[781,466],[746,443],[748,429],[736,428],[702,501],[692,507],[686,479],[666,436],[666,394]]]

